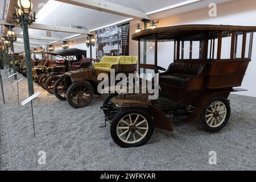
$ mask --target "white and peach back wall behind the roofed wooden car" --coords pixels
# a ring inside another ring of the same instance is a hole
[[[214,1],[213,1],[214,2]],[[229,24],[240,26],[256,26],[256,1],[239,0],[217,6],[217,17],[209,17],[209,9],[201,9],[190,13],[171,16],[160,19],[157,27],[166,27],[177,24]],[[141,27],[143,29],[143,24]],[[130,34],[134,34],[137,24],[132,23]],[[158,47],[158,63],[167,68],[173,61],[172,49],[170,46],[161,43]],[[138,55],[138,42],[130,38],[130,55]],[[256,33],[254,33],[253,55],[241,88],[247,89],[247,92],[237,94],[256,97]]]

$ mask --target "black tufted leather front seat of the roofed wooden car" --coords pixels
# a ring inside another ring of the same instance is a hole
[[[166,72],[160,73],[159,82],[187,88],[189,78],[197,77],[204,69],[200,63],[172,63]]]

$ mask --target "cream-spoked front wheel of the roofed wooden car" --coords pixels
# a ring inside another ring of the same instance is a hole
[[[139,147],[145,144],[154,132],[151,115],[144,109],[122,110],[113,118],[110,133],[120,147]]]

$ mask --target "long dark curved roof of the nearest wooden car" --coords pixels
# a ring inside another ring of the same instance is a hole
[[[213,24],[185,24],[170,27],[160,27],[147,29],[133,34],[133,40],[154,41],[155,36],[158,40],[168,41],[187,36],[199,35],[205,32],[214,31],[256,31],[255,26],[230,26]]]

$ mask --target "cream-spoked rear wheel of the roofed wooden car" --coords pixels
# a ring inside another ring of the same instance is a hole
[[[205,130],[216,132],[221,130],[230,117],[230,105],[226,98],[216,96],[211,98],[200,115],[200,121]]]

